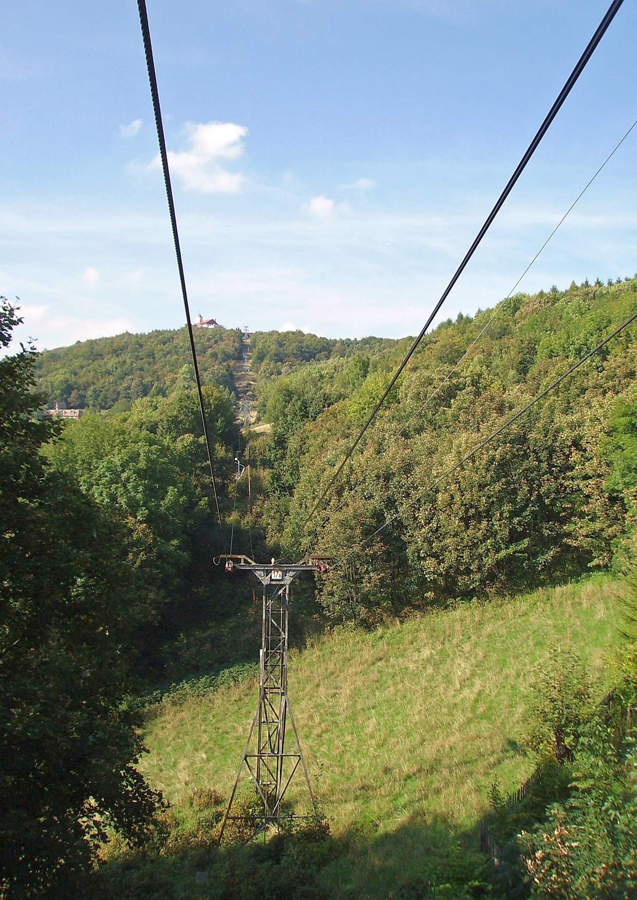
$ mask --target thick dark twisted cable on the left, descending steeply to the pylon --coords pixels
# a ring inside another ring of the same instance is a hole
[[[177,216],[174,209],[173,186],[171,184],[171,175],[168,168],[168,154],[166,152],[166,139],[164,137],[164,123],[162,121],[162,109],[159,104],[159,91],[157,89],[157,76],[155,75],[155,60],[153,58],[153,46],[150,40],[150,28],[148,26],[148,14],[146,13],[146,0],[137,0],[137,10],[139,12],[139,23],[142,29],[142,38],[144,40],[144,53],[146,54],[146,68],[148,69],[148,83],[150,85],[150,94],[153,98],[153,112],[155,114],[155,126],[157,129],[157,141],[159,143],[159,154],[162,158],[162,170],[164,172],[164,185],[166,189],[166,200],[168,201],[168,211],[171,216],[171,227],[173,229],[173,242],[175,256],[177,257],[177,268],[179,269],[179,281],[181,284],[181,297],[183,298],[183,308],[186,312],[186,325],[188,326],[188,336],[190,338],[190,352],[192,354],[192,367],[195,370],[195,381],[197,382],[197,393],[199,395],[199,409],[201,410],[201,424],[203,426],[204,438],[206,440],[206,451],[208,453],[208,466],[210,468],[210,479],[212,481],[212,491],[215,496],[215,507],[217,509],[217,519],[219,522],[219,531],[221,532],[221,545],[226,553],[226,540],[224,537],[224,525],[221,518],[221,509],[219,508],[219,498],[217,495],[217,481],[215,479],[215,469],[212,464],[212,452],[210,450],[210,436],[208,435],[208,424],[206,421],[206,410],[204,408],[203,394],[201,392],[201,379],[199,377],[199,365],[197,364],[197,351],[195,349],[195,338],[192,334],[192,322],[190,320],[190,307],[188,304],[188,293],[186,291],[186,278],[183,274],[183,262],[181,260],[181,245],[179,241],[179,231],[177,230]]]

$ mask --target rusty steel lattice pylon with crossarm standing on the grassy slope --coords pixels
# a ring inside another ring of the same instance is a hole
[[[274,561],[270,565],[261,565],[243,555],[225,554],[219,557],[221,559],[226,560],[226,572],[233,572],[234,569],[252,572],[261,581],[263,599],[259,702],[221,824],[217,846],[223,840],[228,821],[246,820],[245,816],[231,815],[234,796],[244,770],[250,775],[261,803],[261,814],[250,817],[255,827],[248,840],[265,833],[270,825],[279,824],[283,817],[283,798],[299,767],[303,771],[314,808],[314,795],[288,698],[288,599],[289,586],[296,575],[301,572],[324,572],[329,564],[326,557],[319,556],[309,556],[292,565],[275,564]],[[293,752],[286,752],[288,716],[295,740]],[[255,732],[256,746],[253,747]]]

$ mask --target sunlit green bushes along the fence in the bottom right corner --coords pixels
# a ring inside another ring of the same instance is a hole
[[[637,593],[628,581],[632,616]],[[553,645],[526,709],[534,778],[519,801],[492,790],[498,896],[632,897],[637,893],[637,645],[624,635],[615,687],[591,707],[579,657]]]

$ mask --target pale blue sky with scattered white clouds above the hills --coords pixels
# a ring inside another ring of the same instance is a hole
[[[147,0],[193,318],[420,331],[609,0]],[[637,119],[625,0],[438,320],[498,302]],[[184,324],[137,4],[9,0],[0,294],[40,348]],[[637,128],[519,290],[637,269]]]

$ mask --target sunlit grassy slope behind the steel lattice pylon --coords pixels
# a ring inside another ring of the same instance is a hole
[[[528,673],[551,642],[579,650],[600,697],[608,688],[618,590],[596,576],[336,632],[292,656],[289,693],[332,833],[366,836],[325,870],[335,896],[386,897],[423,854],[453,853],[452,834],[458,852],[475,847],[492,776],[508,791],[533,768],[517,741]],[[165,709],[147,726],[153,785],[176,804],[196,787],[227,796],[255,703],[255,684],[243,682]]]

